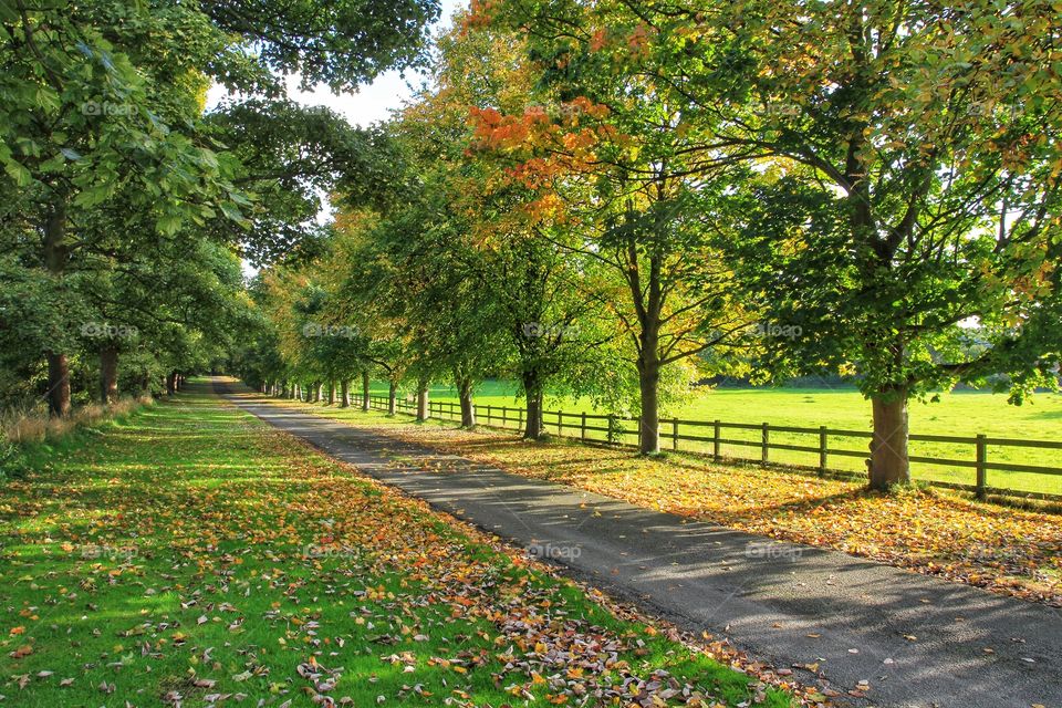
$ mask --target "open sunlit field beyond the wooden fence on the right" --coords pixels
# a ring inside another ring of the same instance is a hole
[[[377,389],[378,391],[378,389]],[[489,382],[476,398],[478,423],[518,429],[524,408],[507,382]],[[459,419],[450,389],[433,392],[433,414]],[[554,399],[546,430],[564,437],[634,445],[637,421],[595,413],[587,402]],[[373,406],[386,407],[374,396]],[[563,406],[563,409],[558,409]],[[413,413],[412,400],[399,409]],[[816,414],[820,417],[816,418]],[[1062,397],[1024,406],[980,392],[939,403],[912,403],[912,473],[916,480],[987,493],[1062,497]],[[721,459],[860,475],[871,440],[870,405],[851,389],[714,389],[662,418],[662,447]]]

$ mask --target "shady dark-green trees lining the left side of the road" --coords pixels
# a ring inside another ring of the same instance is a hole
[[[53,415],[150,391],[257,326],[239,257],[312,252],[379,136],[284,98],[424,60],[434,0],[0,3],[0,378]],[[205,111],[207,90],[239,96]],[[119,357],[121,355],[121,357]],[[44,364],[46,375],[42,376]]]

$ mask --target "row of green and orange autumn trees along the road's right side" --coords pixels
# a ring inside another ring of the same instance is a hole
[[[386,126],[384,191],[263,278],[281,346],[248,371],[382,376],[392,398],[409,381],[421,404],[447,377],[466,425],[472,383],[511,375],[527,436],[549,387],[636,410],[643,454],[699,373],[840,372],[870,402],[871,485],[905,482],[913,398],[1056,383],[1055,20],[1047,1],[473,3]]]

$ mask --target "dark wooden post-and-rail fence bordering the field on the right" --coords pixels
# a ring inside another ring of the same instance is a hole
[[[376,409],[388,409],[388,398],[386,396],[369,396],[369,407]],[[399,413],[416,415],[417,405],[407,399],[396,399],[395,408]],[[460,404],[450,400],[429,402],[429,414],[446,419],[460,420]],[[477,424],[487,427],[521,429],[524,425],[527,410],[520,407],[477,405]],[[636,438],[637,421],[618,415],[603,415],[592,413],[570,413],[564,410],[545,410],[542,414],[543,424],[546,430],[555,433],[560,437],[576,438],[590,442],[606,442],[610,445],[632,446],[635,442],[629,441],[631,437]],[[728,431],[759,433],[754,439],[745,439],[735,437]],[[803,444],[806,438],[801,438],[801,442],[779,441],[772,439],[772,434],[784,434],[792,438],[793,436],[808,436],[808,444]],[[798,467],[816,471],[821,476],[831,477],[856,477],[852,470],[844,470],[831,467],[832,458],[857,458],[868,461],[868,448],[855,450],[846,447],[833,447],[837,438],[847,438],[854,440],[870,440],[873,434],[868,430],[850,430],[843,428],[831,428],[827,426],[819,427],[799,427],[787,425],[771,425],[769,423],[728,423],[723,420],[686,420],[679,418],[660,419],[660,440],[662,447],[665,441],[669,441],[670,449],[685,452],[708,455],[716,460],[739,459],[747,461],[758,461],[762,465],[783,465],[788,467]],[[959,447],[969,447],[970,457],[934,457],[925,455],[910,455],[909,459],[914,464],[943,466],[948,468],[959,468],[962,470],[972,470],[970,482],[951,482],[943,480],[927,480],[928,483],[946,487],[950,489],[960,489],[974,492],[978,498],[985,499],[989,493],[1002,496],[1021,496],[1042,499],[1062,499],[1062,493],[1022,491],[1008,487],[993,487],[989,485],[989,472],[1024,472],[1031,475],[1060,476],[1062,468],[1047,467],[1041,465],[1025,465],[1018,462],[990,461],[989,448],[1037,448],[1049,450],[1062,450],[1062,441],[1053,440],[1022,440],[1018,438],[989,437],[986,435],[976,436],[951,436],[951,435],[920,435],[912,434],[912,442],[940,442]],[[699,444],[701,447],[684,446],[681,442]],[[750,456],[725,456],[723,446],[756,450]],[[805,452],[818,456],[818,462],[814,465],[794,465],[792,462],[782,462],[773,459],[771,452],[774,450],[787,450],[794,452]],[[1060,485],[1062,489],[1062,485]]]

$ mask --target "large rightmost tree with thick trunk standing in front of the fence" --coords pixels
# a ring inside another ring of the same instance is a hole
[[[740,280],[769,321],[802,330],[768,340],[775,371],[857,375],[874,488],[909,479],[912,397],[992,372],[1027,391],[1056,357],[1054,14],[668,2],[639,19],[652,80],[714,135],[702,158],[760,166],[738,186]]]

